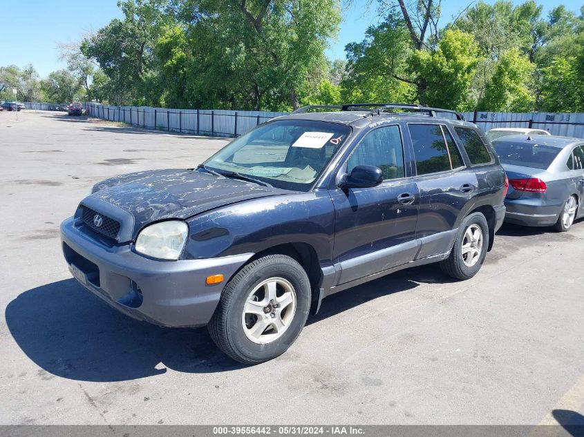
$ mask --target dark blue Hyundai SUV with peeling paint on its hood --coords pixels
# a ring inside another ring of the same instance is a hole
[[[116,309],[207,325],[252,364],[288,349],[337,291],[431,262],[471,278],[506,191],[489,142],[458,113],[310,106],[197,168],[96,184],[61,225],[62,246],[73,276]]]

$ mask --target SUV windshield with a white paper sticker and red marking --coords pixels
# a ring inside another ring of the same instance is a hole
[[[350,132],[335,123],[276,120],[242,135],[204,165],[227,177],[244,175],[277,188],[308,191]]]

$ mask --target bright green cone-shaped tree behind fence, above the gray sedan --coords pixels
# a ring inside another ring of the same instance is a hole
[[[503,53],[485,87],[478,109],[515,113],[534,110],[534,69],[535,65],[517,48]]]

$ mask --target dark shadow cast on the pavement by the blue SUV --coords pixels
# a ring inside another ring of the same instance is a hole
[[[364,302],[417,287],[416,282],[449,281],[422,266],[386,276],[323,300],[317,323]],[[21,293],[6,307],[6,324],[19,347],[49,374],[84,381],[122,381],[165,373],[241,369],[214,345],[207,329],[170,329],[133,320],[75,280],[61,280]],[[162,365],[160,365],[162,363]]]

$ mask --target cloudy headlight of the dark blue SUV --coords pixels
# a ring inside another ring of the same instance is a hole
[[[178,220],[151,224],[138,234],[136,252],[161,260],[178,260],[188,234],[189,226]]]

